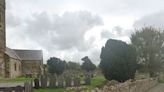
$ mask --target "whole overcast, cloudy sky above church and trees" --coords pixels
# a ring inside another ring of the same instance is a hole
[[[164,28],[164,0],[6,0],[7,46],[99,64],[108,39],[130,43],[144,26]]]

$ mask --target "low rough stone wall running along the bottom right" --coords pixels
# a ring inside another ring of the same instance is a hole
[[[127,81],[116,85],[105,85],[102,89],[96,88],[91,91],[82,92],[146,92],[158,84],[157,79],[142,79],[137,81]]]

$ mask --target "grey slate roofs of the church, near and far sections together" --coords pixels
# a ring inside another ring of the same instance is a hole
[[[9,57],[19,60],[43,60],[42,50],[18,50],[6,47],[5,53]]]

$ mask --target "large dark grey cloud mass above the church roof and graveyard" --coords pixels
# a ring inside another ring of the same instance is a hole
[[[76,48],[85,51],[90,46],[84,36],[95,26],[102,25],[102,19],[87,11],[66,12],[62,16],[49,16],[46,12],[33,15],[26,22],[27,36],[41,46],[65,50]]]

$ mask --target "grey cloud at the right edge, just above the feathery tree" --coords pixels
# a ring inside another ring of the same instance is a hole
[[[155,12],[146,16],[143,16],[134,23],[135,28],[141,28],[145,26],[153,26],[164,29],[164,11]]]

